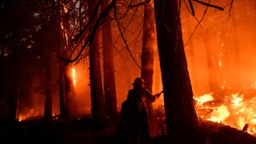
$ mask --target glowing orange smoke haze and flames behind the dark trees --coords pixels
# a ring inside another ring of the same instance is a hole
[[[213,4],[226,6],[229,2],[225,0]],[[254,114],[256,112],[254,106],[256,103],[254,98],[256,9],[254,6],[256,6],[254,1],[235,1],[230,13],[228,8],[224,11],[208,8],[200,25],[198,21],[201,20],[206,6],[194,4],[195,17],[198,20],[191,16],[183,3],[181,14],[183,42],[198,116],[204,120],[234,126],[239,130],[248,123],[250,134],[256,133],[256,114]],[[124,26],[132,18],[132,12],[131,10],[128,18],[123,22]],[[135,14],[134,21],[124,33],[129,49],[138,64],[142,50],[142,15],[142,12]],[[140,69],[125,48],[126,45],[118,34],[116,24],[112,25],[116,48],[113,55],[116,94],[118,110],[120,110],[128,90],[132,88],[134,78],[140,77]],[[154,41],[153,93],[156,94],[162,91],[162,78],[156,37]],[[77,105],[74,112],[88,114],[90,113],[88,58],[84,63],[79,63],[73,68],[76,75],[74,102]],[[43,96],[34,94],[33,98],[37,99],[33,100],[36,103],[39,102],[38,99],[43,99]],[[18,118],[24,119],[30,114],[42,116],[43,102],[44,100],[40,101],[40,105],[31,102],[30,108],[23,106]],[[163,105],[163,95],[153,103],[154,109],[161,105]],[[58,100],[54,101],[54,111],[58,114]]]

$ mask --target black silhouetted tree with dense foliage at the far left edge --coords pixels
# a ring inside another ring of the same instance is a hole
[[[33,47],[35,19],[31,17],[34,7],[31,2],[1,2],[1,75],[0,75],[0,119],[14,121],[18,118],[20,99],[23,90],[31,80],[31,60],[34,60]],[[22,6],[21,6],[22,5]],[[20,7],[19,7],[20,6]],[[11,11],[10,11],[11,10]],[[34,48],[34,47],[33,47]]]

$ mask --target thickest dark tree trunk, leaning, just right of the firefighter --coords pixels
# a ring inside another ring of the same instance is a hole
[[[201,122],[194,108],[179,7],[178,0],[154,0],[166,127],[174,142],[197,143]]]

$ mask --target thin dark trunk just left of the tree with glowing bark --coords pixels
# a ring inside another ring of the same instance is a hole
[[[51,19],[49,23],[42,26],[40,31],[40,43],[42,49],[45,50],[45,62],[46,62],[46,101],[44,118],[50,120],[53,115],[53,98],[58,85],[58,59],[54,57],[54,54],[59,50],[59,45],[56,39],[59,37],[54,26],[56,19]]]

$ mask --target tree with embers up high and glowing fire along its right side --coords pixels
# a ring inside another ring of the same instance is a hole
[[[70,38],[72,38],[72,20],[77,19],[71,17],[72,12],[76,9],[72,9],[75,2],[62,2],[58,1],[58,30],[59,30],[59,54],[62,54],[65,58],[72,57],[74,48],[69,47]],[[80,3],[81,5],[81,3]],[[65,10],[66,9],[66,10]],[[73,18],[73,19],[72,19]],[[75,30],[73,30],[75,31]],[[76,105],[74,103],[74,83],[70,76],[72,69],[72,62],[60,62],[59,66],[59,96],[60,96],[60,115],[62,118],[70,118],[74,115]]]

